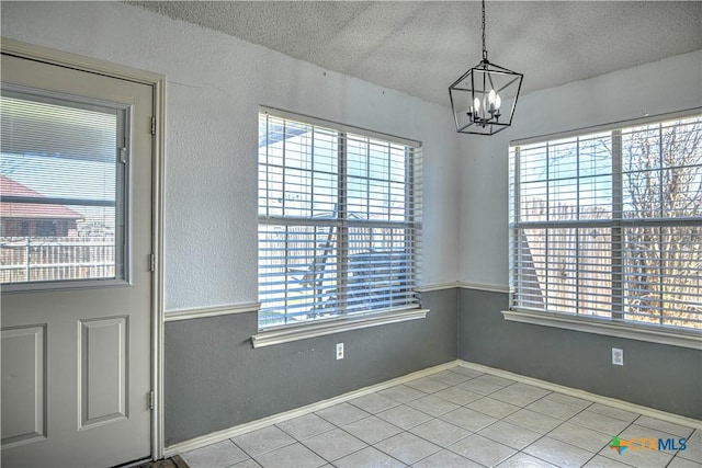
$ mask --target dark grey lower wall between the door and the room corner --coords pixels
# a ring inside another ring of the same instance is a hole
[[[455,359],[457,290],[424,293],[422,305],[422,320],[257,350],[254,312],[167,322],[166,445]]]

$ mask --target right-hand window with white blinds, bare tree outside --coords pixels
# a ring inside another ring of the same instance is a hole
[[[702,116],[510,147],[511,308],[702,329]]]

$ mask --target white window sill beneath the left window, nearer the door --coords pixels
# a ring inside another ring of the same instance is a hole
[[[324,336],[326,334],[423,319],[428,312],[429,309],[395,310],[384,313],[332,319],[287,329],[269,330],[251,336],[251,344],[253,347],[272,346],[274,344]]]

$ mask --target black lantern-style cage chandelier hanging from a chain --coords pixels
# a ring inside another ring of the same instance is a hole
[[[523,77],[487,59],[483,0],[483,60],[449,87],[456,132],[494,135],[509,127]]]

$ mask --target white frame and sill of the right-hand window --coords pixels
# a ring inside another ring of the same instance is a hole
[[[510,156],[509,162],[509,307],[507,310],[502,311],[502,315],[506,320],[517,321],[522,323],[530,324],[540,324],[546,327],[555,327],[568,330],[576,331],[585,331],[597,334],[605,334],[618,338],[626,338],[646,342],[654,342],[660,344],[668,344],[681,347],[691,347],[702,350],[702,330],[698,330],[694,328],[683,328],[676,326],[666,326],[658,323],[648,323],[645,321],[637,320],[625,320],[623,318],[623,312],[616,312],[612,307],[611,317],[595,317],[587,316],[580,313],[569,313],[563,311],[554,311],[548,310],[548,308],[542,309],[530,309],[525,307],[519,307],[517,305],[517,297],[519,296],[519,281],[518,276],[520,275],[521,266],[521,254],[518,252],[519,248],[517,246],[519,230],[523,227],[520,220],[520,159],[519,159],[519,148],[532,145],[532,144],[546,144],[555,140],[562,140],[574,137],[591,137],[595,134],[609,132],[612,135],[612,181],[610,183],[610,189],[612,190],[612,215],[611,219],[605,222],[611,225],[612,228],[612,242],[609,249],[610,252],[615,251],[615,242],[616,239],[621,238],[621,236],[616,236],[616,232],[621,235],[623,227],[627,225],[641,226],[643,221],[631,222],[622,216],[622,203],[624,199],[624,195],[622,194],[622,182],[625,180],[625,172],[622,169],[622,161],[624,158],[622,150],[622,133],[621,130],[629,127],[637,127],[645,126],[650,124],[663,124],[669,121],[676,119],[684,119],[689,117],[699,116],[702,114],[702,107],[690,109],[686,111],[668,113],[668,114],[658,114],[654,116],[646,116],[644,118],[637,119],[629,119],[614,122],[605,125],[598,125],[593,127],[587,127],[576,130],[569,130],[564,133],[548,134],[540,137],[525,138],[520,140],[510,141],[510,152],[514,152],[513,156]],[[577,142],[576,142],[577,145]],[[581,180],[581,175],[577,175],[578,180]],[[582,224],[587,221],[582,221],[578,219],[574,221],[576,224]],[[646,224],[646,226],[666,226],[676,222],[676,218],[664,218],[657,219],[654,222]],[[694,222],[698,222],[697,218],[694,218]],[[597,224],[597,221],[596,221]],[[567,224],[566,224],[567,225]],[[693,226],[698,226],[697,224]],[[543,228],[553,228],[548,222],[544,222]],[[621,246],[621,239],[620,239]],[[613,255],[615,256],[615,255]],[[579,261],[576,263],[578,265],[578,271],[580,271],[581,264]],[[612,267],[612,286],[610,290],[622,290],[623,288],[620,286],[615,286],[616,282],[621,283],[621,277],[618,277],[616,272],[621,272],[623,265],[623,261],[619,259],[619,262],[614,261]],[[621,276],[621,274],[620,274]],[[619,287],[620,289],[616,289]],[[614,296],[614,295],[612,295]],[[614,304],[613,304],[614,306]],[[702,318],[702,317],[701,317]]]

